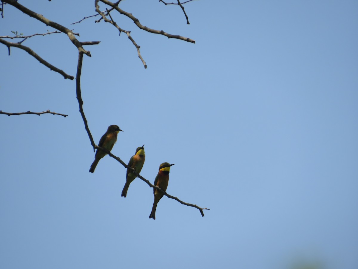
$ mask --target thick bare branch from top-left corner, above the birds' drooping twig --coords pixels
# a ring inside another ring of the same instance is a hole
[[[82,52],[82,53],[86,54],[87,56],[91,57],[91,52],[86,51],[86,49],[84,49],[82,47],[81,43],[77,40],[76,37],[74,37],[74,33],[72,32],[72,30],[62,26],[61,24],[55,23],[52,20],[45,18],[43,15],[38,14],[38,13],[26,8],[23,5],[20,5],[16,0],[2,0],[2,1],[4,3],[8,3],[8,4],[14,6],[15,8],[17,8],[18,10],[22,11],[23,13],[29,15],[30,17],[33,17],[33,18],[39,20],[40,22],[43,22],[44,24],[67,34],[68,38],[77,47],[79,52]]]

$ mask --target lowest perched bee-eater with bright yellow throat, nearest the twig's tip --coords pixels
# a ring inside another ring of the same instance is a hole
[[[168,187],[168,182],[169,182],[170,166],[172,166],[172,165],[174,165],[174,164],[169,164],[168,162],[163,162],[163,164],[161,164],[159,166],[159,172],[158,172],[158,175],[155,177],[154,186],[157,186],[157,187],[161,188],[162,190],[166,191],[166,188]],[[157,189],[153,189],[153,193],[154,193],[154,202],[153,202],[152,212],[150,213],[149,218],[153,218],[153,220],[155,220],[156,206],[157,206],[159,200],[164,196],[164,194],[160,193],[159,190],[157,190]]]

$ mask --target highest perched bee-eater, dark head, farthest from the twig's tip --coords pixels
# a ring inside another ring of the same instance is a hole
[[[98,146],[111,151],[117,141],[117,135],[120,131],[123,132],[117,125],[108,126],[107,132],[101,137]],[[98,162],[106,155],[106,152],[97,148],[95,160],[93,161],[91,168],[89,169],[91,173],[95,171]]]

